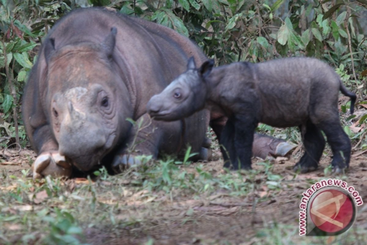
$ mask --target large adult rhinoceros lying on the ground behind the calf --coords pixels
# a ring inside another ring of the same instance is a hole
[[[199,65],[206,60],[189,39],[152,22],[101,8],[63,17],[44,40],[23,97],[26,131],[38,154],[33,177],[129,164],[131,143],[138,143],[132,155],[156,158],[189,144],[206,159],[208,111],[175,122],[146,114],[150,97],[184,72],[191,56]],[[150,124],[137,130],[127,118]]]

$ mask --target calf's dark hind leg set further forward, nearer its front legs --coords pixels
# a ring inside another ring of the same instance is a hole
[[[301,157],[301,160],[294,166],[294,170],[307,173],[317,169],[325,148],[325,140],[320,129],[310,121],[307,122],[306,128],[303,129],[304,131],[302,131],[302,127],[300,128],[302,135],[304,135],[302,140],[305,153]]]

